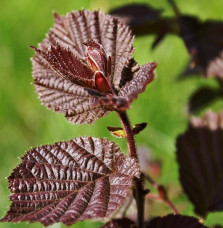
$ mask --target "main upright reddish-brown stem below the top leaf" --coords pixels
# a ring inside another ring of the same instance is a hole
[[[135,138],[132,132],[131,124],[126,112],[118,112],[119,118],[121,120],[123,129],[126,133],[126,139],[128,144],[128,151],[131,157],[136,158],[138,162],[138,156],[136,151]],[[143,176],[143,175],[141,175]],[[137,217],[139,228],[144,227],[144,204],[145,204],[145,194],[143,186],[143,177],[134,180],[134,197],[136,199],[137,205]]]

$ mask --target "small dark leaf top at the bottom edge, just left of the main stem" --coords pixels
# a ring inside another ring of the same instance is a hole
[[[137,228],[136,224],[129,218],[112,219],[101,228]]]

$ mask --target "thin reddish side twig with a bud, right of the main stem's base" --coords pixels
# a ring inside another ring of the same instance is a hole
[[[145,179],[158,191],[159,195],[154,195],[151,193],[148,193],[146,195],[146,198],[153,199],[153,200],[161,200],[164,203],[166,203],[171,210],[174,212],[174,214],[180,214],[177,208],[174,206],[174,204],[169,200],[166,188],[163,185],[159,185],[156,183],[150,176],[145,175]]]

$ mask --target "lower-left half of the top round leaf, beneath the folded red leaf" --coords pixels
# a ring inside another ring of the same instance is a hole
[[[35,69],[36,73],[37,71]],[[42,70],[40,76],[35,78],[35,86],[42,103],[49,109],[65,113],[66,118],[72,123],[94,123],[109,113],[101,106],[95,106],[89,91],[52,75],[49,69]]]

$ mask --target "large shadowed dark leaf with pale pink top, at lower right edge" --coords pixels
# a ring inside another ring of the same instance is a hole
[[[223,113],[192,118],[177,139],[180,181],[195,211],[223,210]]]

